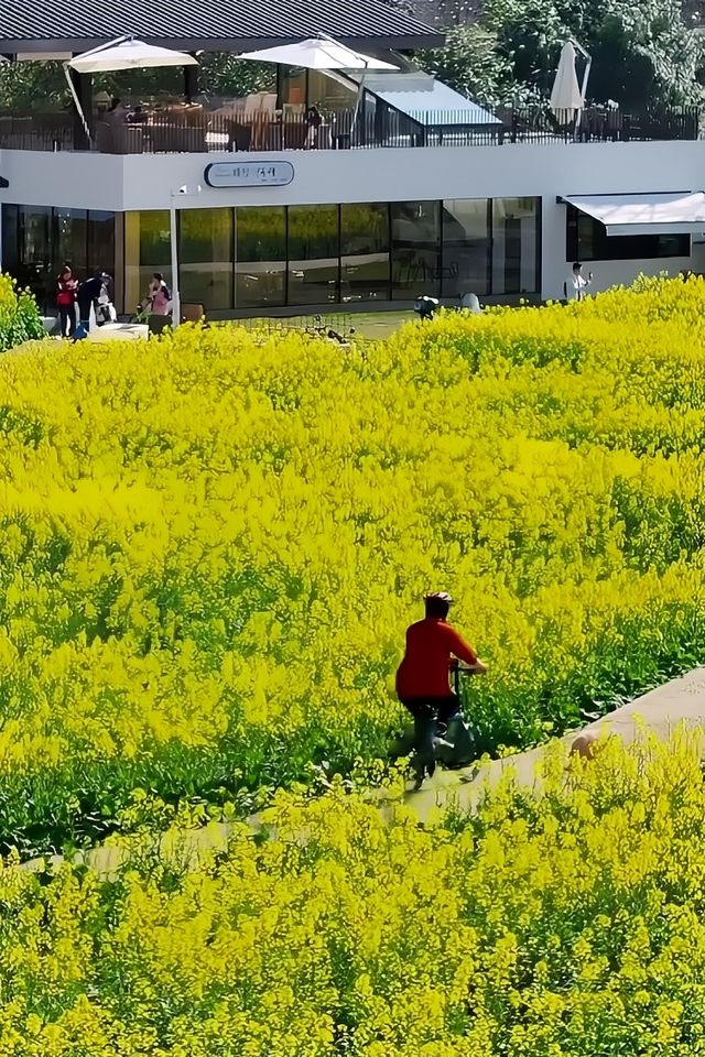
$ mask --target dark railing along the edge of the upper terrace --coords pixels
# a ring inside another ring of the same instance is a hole
[[[482,117],[481,112],[478,116]],[[102,154],[177,154],[232,151],[430,148],[502,143],[630,142],[696,140],[704,134],[695,107],[641,113],[592,107],[577,123],[561,122],[542,108],[497,108],[484,120],[466,111],[426,113],[421,119],[380,108],[377,115],[341,111],[312,124],[304,115],[229,113],[199,108],[155,111],[137,123],[98,117],[90,141],[70,113],[0,112],[0,148],[29,151],[90,150]]]

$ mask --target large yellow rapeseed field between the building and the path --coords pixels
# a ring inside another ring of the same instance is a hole
[[[384,756],[427,589],[491,665],[488,750],[702,657],[704,294],[6,355],[6,843]]]

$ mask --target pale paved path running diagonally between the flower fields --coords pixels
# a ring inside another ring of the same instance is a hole
[[[584,727],[581,731],[573,731],[561,739],[565,753],[578,734],[606,733],[616,734],[626,744],[634,741],[643,730],[651,731],[662,741],[668,741],[681,724],[691,729],[702,728],[705,731],[705,667],[694,668],[682,678],[672,679],[663,686],[636,698],[629,705],[610,712],[604,719]],[[405,803],[419,817],[421,822],[429,820],[438,809],[456,805],[462,810],[473,810],[487,785],[496,785],[506,771],[511,769],[516,781],[525,786],[538,787],[539,764],[545,755],[547,742],[529,752],[517,753],[505,760],[492,760],[479,771],[477,767],[467,767],[464,771],[438,770],[433,780],[426,781],[420,792],[408,792]],[[372,792],[371,798],[375,799]],[[389,807],[380,804],[380,810],[387,813]],[[240,824],[238,824],[240,825]],[[247,819],[247,825],[253,831],[262,827],[262,820],[254,815]],[[208,849],[220,850],[227,846],[234,826],[229,822],[209,822],[200,829],[188,830],[173,837],[159,836],[154,842],[154,851],[160,856],[170,851],[178,853],[183,861],[194,863],[198,854]],[[124,851],[108,840],[85,853],[75,857],[76,862],[91,867],[101,876],[110,876],[124,860]],[[51,861],[61,862],[61,856],[54,856]],[[40,871],[45,868],[46,859],[33,859],[22,863],[21,869]]]

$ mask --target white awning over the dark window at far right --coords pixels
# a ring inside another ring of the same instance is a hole
[[[562,201],[594,217],[607,235],[699,235],[705,231],[705,194],[565,195]]]

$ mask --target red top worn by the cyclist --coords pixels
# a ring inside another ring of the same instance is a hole
[[[475,664],[471,646],[437,617],[426,617],[406,629],[406,652],[397,672],[397,694],[404,700],[415,697],[447,697],[453,657]]]

